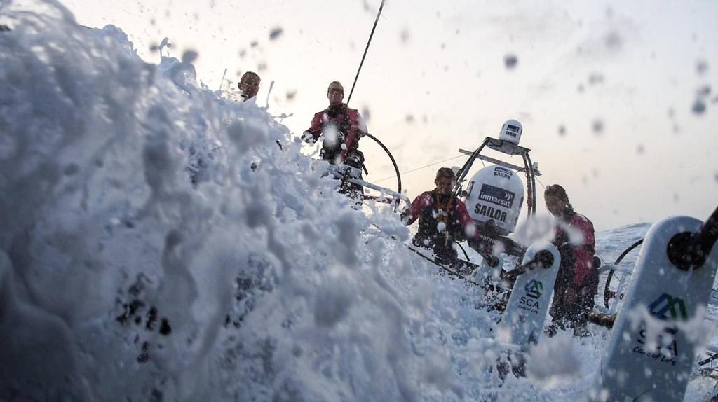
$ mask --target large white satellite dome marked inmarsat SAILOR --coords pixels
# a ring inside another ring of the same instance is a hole
[[[487,166],[469,182],[466,208],[475,221],[494,224],[508,234],[516,228],[523,204],[523,183],[512,170]]]

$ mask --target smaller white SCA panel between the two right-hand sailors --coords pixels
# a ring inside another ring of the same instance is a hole
[[[551,267],[532,269],[518,276],[499,325],[500,340],[521,348],[538,343],[541,332],[544,332],[546,312],[549,311],[551,293],[554,292],[554,282],[561,264],[559,250],[553,244],[545,242],[528,247],[521,264],[530,262],[536,257],[536,253],[542,250],[553,254],[554,263]]]

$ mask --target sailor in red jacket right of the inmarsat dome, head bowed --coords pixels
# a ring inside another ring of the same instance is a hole
[[[574,211],[566,190],[558,184],[546,187],[544,199],[546,209],[559,220],[552,243],[561,253],[551,317],[559,327],[569,324],[575,335],[585,335],[586,314],[593,310],[598,288],[593,224]]]

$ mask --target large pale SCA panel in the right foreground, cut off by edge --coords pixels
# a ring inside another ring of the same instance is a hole
[[[718,247],[693,271],[671,264],[666,249],[675,234],[700,226],[698,219],[675,216],[646,234],[602,361],[597,400],[683,401],[699,346],[702,318],[695,318],[708,305]],[[688,322],[695,327],[686,328]]]

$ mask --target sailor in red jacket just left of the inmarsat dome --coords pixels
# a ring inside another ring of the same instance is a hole
[[[462,236],[468,241],[478,239],[478,231],[466,210],[466,205],[454,194],[456,184],[454,171],[440,168],[434,180],[437,188],[426,191],[414,199],[411,208],[402,213],[406,224],[419,219],[419,231],[414,236],[414,245],[434,250],[439,262],[447,265],[457,263],[454,239]]]

